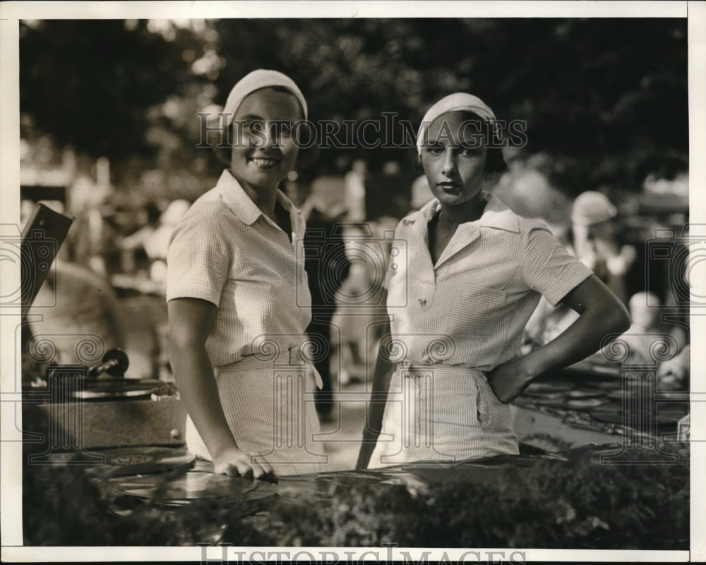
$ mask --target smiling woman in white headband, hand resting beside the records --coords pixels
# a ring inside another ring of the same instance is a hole
[[[294,167],[306,100],[277,71],[246,75],[225,109],[227,165],[174,229],[169,348],[186,445],[216,473],[274,479],[321,470],[306,361],[311,298],[297,241],[304,219],[279,190]],[[302,356],[304,353],[304,356]]]

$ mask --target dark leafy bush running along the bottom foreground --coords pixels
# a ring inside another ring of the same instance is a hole
[[[116,499],[110,481],[35,468],[25,544],[688,549],[688,451],[660,450],[678,463],[605,465],[579,450],[532,466],[332,473],[288,482],[257,513],[227,500],[169,509]]]

